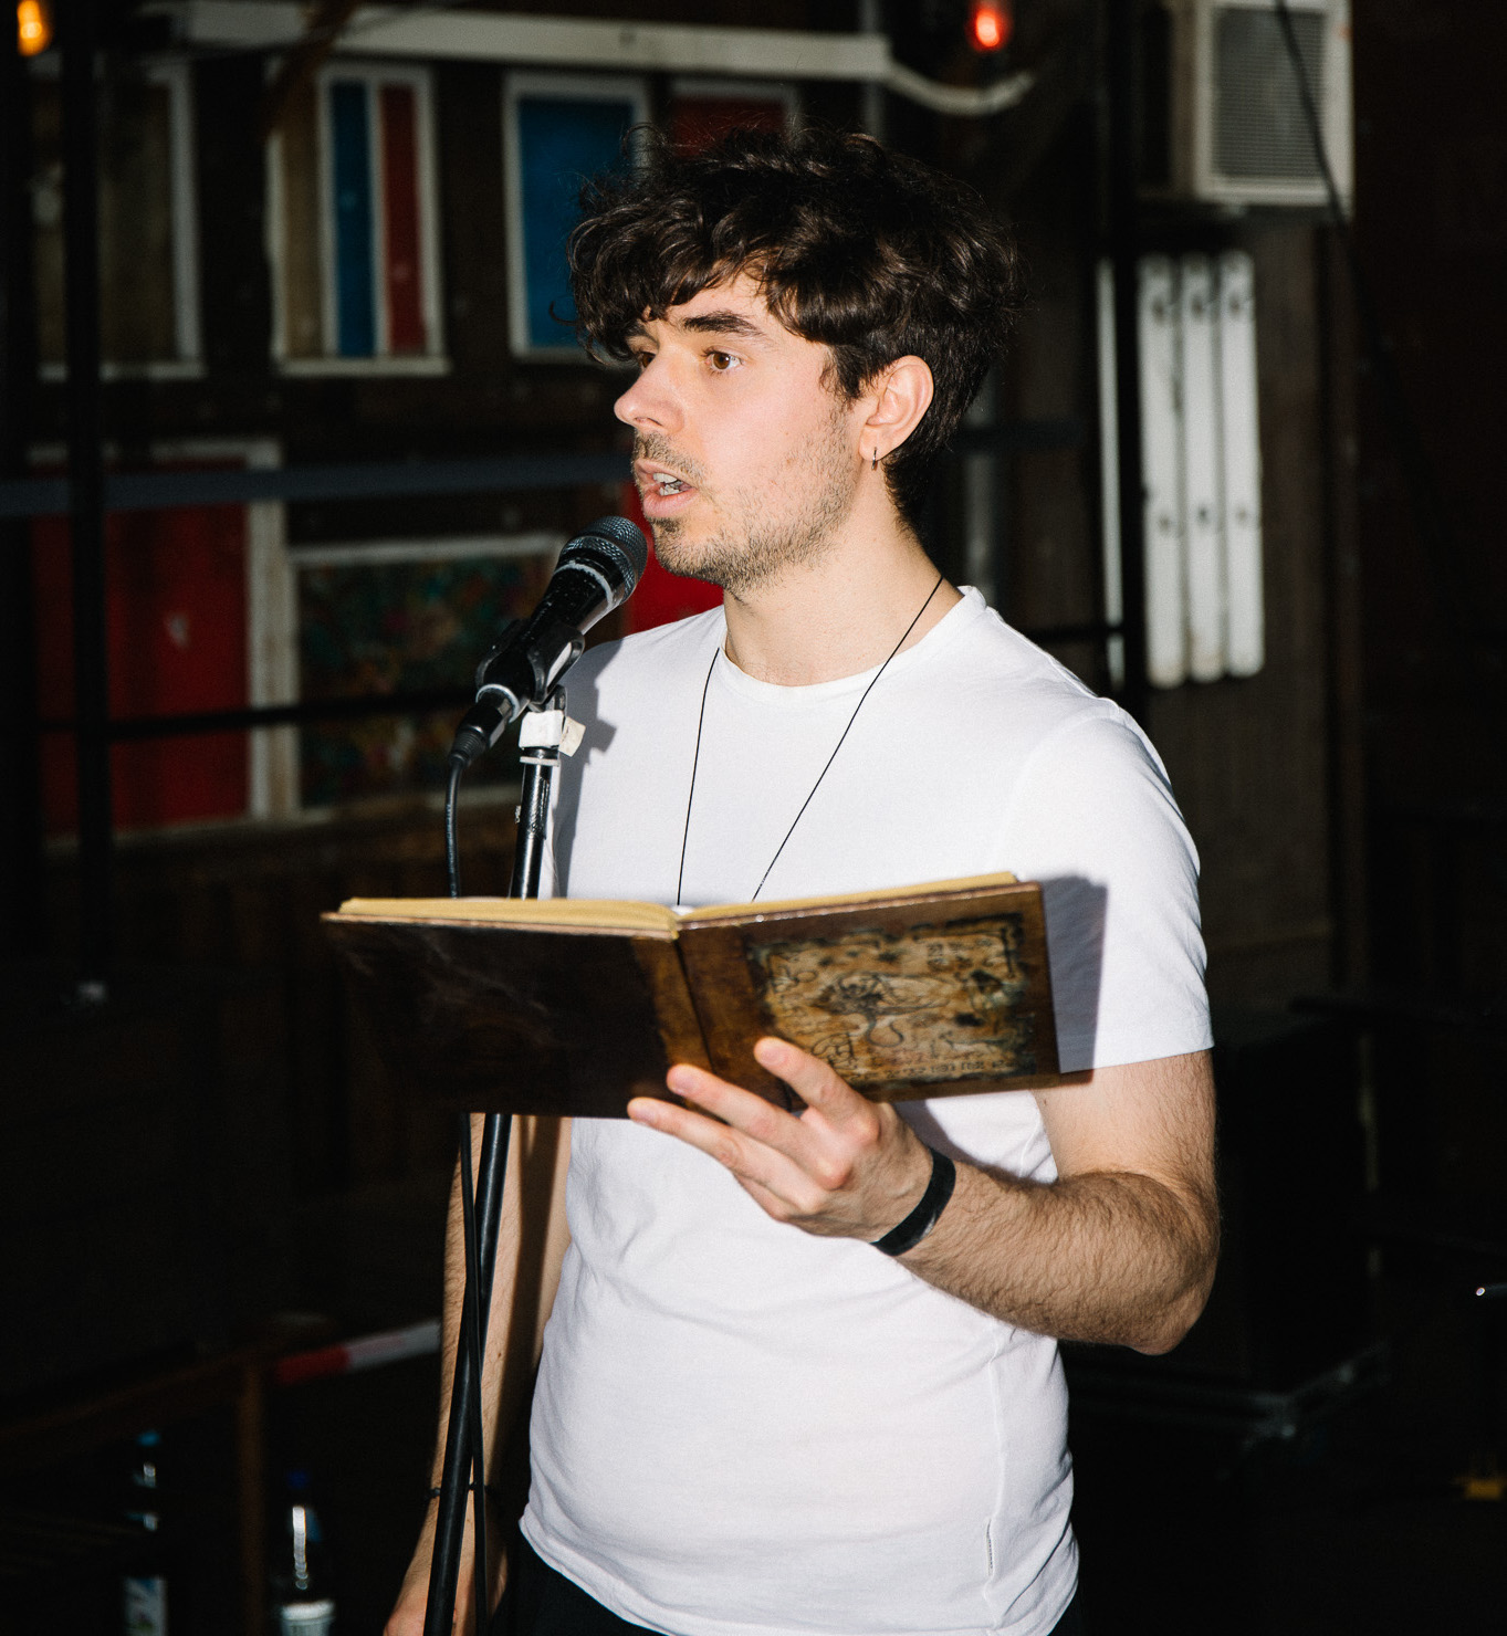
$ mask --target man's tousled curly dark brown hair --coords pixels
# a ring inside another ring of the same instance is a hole
[[[895,358],[924,358],[931,407],[884,461],[915,525],[1021,303],[1016,252],[977,193],[869,136],[733,131],[684,154],[648,131],[638,162],[587,183],[581,206],[571,285],[596,358],[627,362],[645,314],[740,273],[789,330],[831,350],[849,402]]]

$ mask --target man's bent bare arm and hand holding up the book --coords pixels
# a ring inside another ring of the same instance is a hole
[[[766,1039],[756,1055],[807,1103],[800,1117],[689,1067],[669,1088],[713,1117],[650,1098],[628,1112],[727,1165],[776,1220],[884,1237],[926,1189],[926,1147],[795,1045]],[[1208,1054],[1101,1068],[1037,1103],[1059,1180],[959,1163],[951,1204],[902,1263],[1023,1328],[1167,1351],[1203,1310],[1217,1255]]]

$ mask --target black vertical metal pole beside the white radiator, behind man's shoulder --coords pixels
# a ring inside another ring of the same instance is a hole
[[[1119,563],[1126,679],[1121,703],[1145,725],[1145,479],[1140,470],[1140,345],[1136,332],[1137,196],[1136,26],[1137,0],[1104,7],[1106,152],[1104,203],[1114,268],[1114,419],[1119,430]]]

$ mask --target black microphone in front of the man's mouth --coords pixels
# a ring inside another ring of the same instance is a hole
[[[530,705],[543,705],[586,651],[586,631],[633,594],[648,563],[643,533],[627,517],[597,517],[560,553],[538,607],[502,630],[476,666],[476,703],[465,713],[450,761],[468,767]]]

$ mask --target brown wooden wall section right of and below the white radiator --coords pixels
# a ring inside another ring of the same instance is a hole
[[[1209,991],[1286,1005],[1329,987],[1329,542],[1314,232],[1242,232],[1255,258],[1266,664],[1154,692],[1147,728],[1203,857]]]

